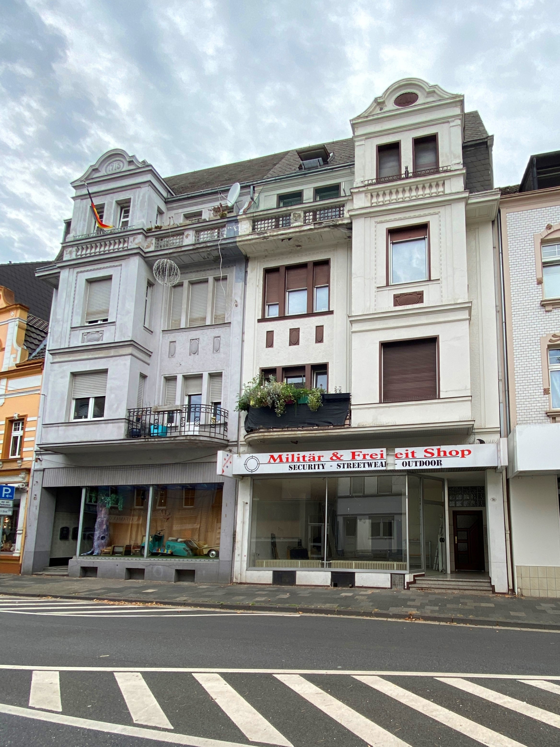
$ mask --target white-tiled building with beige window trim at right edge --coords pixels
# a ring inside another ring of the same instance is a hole
[[[560,152],[500,200],[508,500],[517,593],[560,595]]]

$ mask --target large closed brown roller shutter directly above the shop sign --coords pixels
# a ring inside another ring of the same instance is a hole
[[[382,345],[382,401],[411,402],[438,397],[436,338]]]

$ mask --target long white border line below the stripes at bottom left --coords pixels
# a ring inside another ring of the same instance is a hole
[[[48,713],[46,710],[29,710],[28,708],[19,708],[15,705],[7,705],[5,703],[0,703],[0,713],[5,713],[7,716],[21,716],[24,719],[47,721],[63,726],[76,726],[81,729],[103,731],[105,734],[124,734],[126,737],[140,737],[144,740],[167,742],[173,745],[186,745],[187,747],[253,747],[252,745],[239,742],[223,742],[222,740],[210,740],[204,737],[189,737],[187,734],[169,734],[169,731],[143,729],[140,726],[125,726],[105,721],[78,719],[75,716],[63,716],[62,714],[59,716],[55,713]]]

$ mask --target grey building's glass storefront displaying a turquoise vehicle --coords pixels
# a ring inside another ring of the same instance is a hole
[[[95,486],[84,492],[79,555],[220,555],[223,483]]]

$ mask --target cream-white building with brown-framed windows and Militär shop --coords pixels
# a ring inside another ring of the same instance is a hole
[[[316,412],[249,406],[220,457],[234,580],[508,592],[492,138],[415,78],[351,124],[255,182],[240,217],[243,382],[325,394]]]

